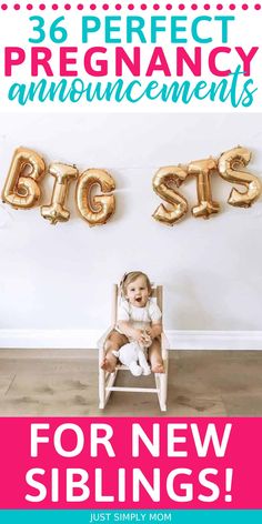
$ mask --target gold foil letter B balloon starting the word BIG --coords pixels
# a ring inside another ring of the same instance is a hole
[[[36,151],[18,148],[2,191],[2,201],[14,209],[33,208],[41,195],[38,182],[44,170],[44,161]]]

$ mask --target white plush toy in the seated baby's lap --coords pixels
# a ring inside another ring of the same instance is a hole
[[[119,351],[112,353],[120,362],[128,366],[132,375],[150,375],[151,370],[145,356],[147,347],[138,342],[129,342],[122,345]]]

